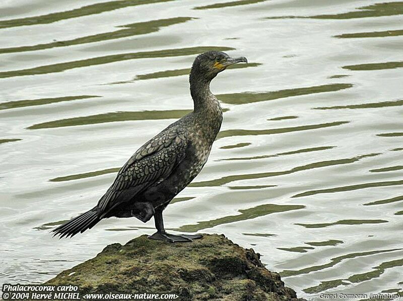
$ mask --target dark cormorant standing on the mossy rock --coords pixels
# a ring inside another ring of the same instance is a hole
[[[171,200],[200,172],[210,155],[223,121],[223,111],[210,82],[228,66],[244,62],[221,51],[199,54],[190,69],[194,109],[141,146],[118,171],[115,180],[91,210],[52,230],[53,236],[73,237],[105,218],[154,217],[157,232],[150,239],[191,242],[202,235],[165,231],[162,213]]]

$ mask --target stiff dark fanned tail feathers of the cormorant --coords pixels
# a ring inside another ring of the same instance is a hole
[[[71,219],[69,222],[53,229],[53,236],[59,235],[62,237],[73,237],[77,233],[83,233],[87,229],[91,229],[95,226],[101,219],[98,217],[97,208],[93,208],[78,217]]]

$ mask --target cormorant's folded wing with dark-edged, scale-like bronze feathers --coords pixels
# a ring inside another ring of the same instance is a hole
[[[184,159],[186,146],[187,131],[181,127],[168,127],[146,142],[123,165],[99,200],[99,215],[104,216],[112,208],[169,176]]]

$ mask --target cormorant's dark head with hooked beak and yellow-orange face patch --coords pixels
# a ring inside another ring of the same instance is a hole
[[[197,74],[197,77],[212,80],[219,72],[224,71],[228,66],[240,62],[247,63],[248,61],[243,56],[232,58],[221,51],[208,51],[195,58],[191,73],[194,75]]]

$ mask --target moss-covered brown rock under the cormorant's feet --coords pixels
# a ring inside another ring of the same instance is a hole
[[[192,243],[167,243],[146,235],[124,246],[107,246],[95,258],[45,284],[72,284],[86,293],[175,293],[176,300],[303,300],[260,255],[224,235],[205,234]]]

